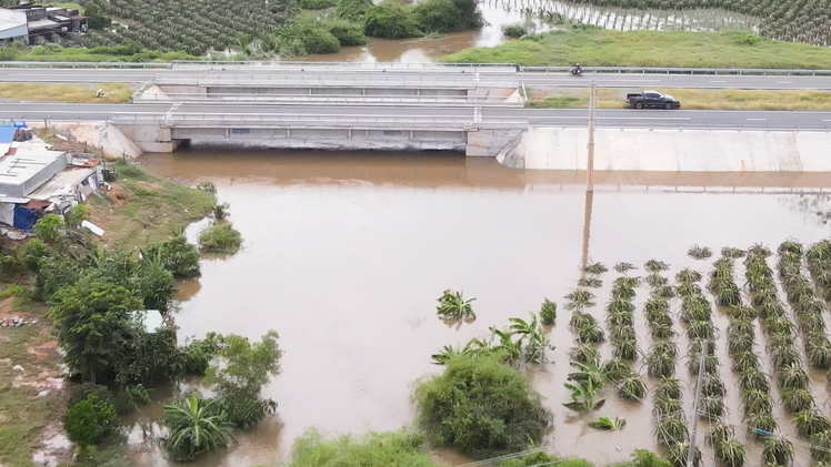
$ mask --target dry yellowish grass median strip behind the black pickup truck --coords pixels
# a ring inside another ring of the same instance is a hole
[[[757,91],[741,89],[660,89],[681,101],[688,110],[828,110],[831,111],[831,92],[828,91]],[[624,109],[625,89],[599,88],[598,106]],[[532,92],[527,104],[534,109],[588,109],[589,90],[557,90]]]

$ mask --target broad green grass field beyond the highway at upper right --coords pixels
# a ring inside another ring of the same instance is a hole
[[[831,69],[831,49],[778,42],[748,32],[557,30],[491,48],[467,49],[445,62],[530,67],[690,67]]]

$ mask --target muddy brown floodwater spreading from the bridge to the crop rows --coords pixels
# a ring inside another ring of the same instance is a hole
[[[622,403],[609,392],[607,405],[592,415],[627,417],[625,429],[613,434],[585,428],[585,419],[561,405],[568,399],[562,383],[573,338],[562,296],[579,277],[585,240],[580,174],[514,171],[493,160],[442,153],[193,146],[151,154],[143,162],[188,182],[214,182],[244,238],[239,254],[203,261],[199,284],[187,284],[176,317],[180,337],[217,331],[256,339],[273,328],[284,351],[282,374],[264,388],[279,403],[277,417],[242,434],[237,447],[193,466],[277,464],[309,427],[334,435],[408,426],[413,382],[440,370],[430,364],[432,353],[484,336],[489,326],[504,326],[509,317],[524,317],[539,309],[543,297],[561,305],[550,332],[557,346],[552,363],[530,375],[554,413],[549,448],[598,465],[622,460],[634,448],[655,448],[651,400]],[[599,180],[638,180],[638,174],[615,175]],[[705,175],[693,179],[709,184]],[[788,185],[771,174],[760,180]],[[672,264],[667,274],[674,277],[685,265],[708,270],[711,261],[685,255],[692,244],[718,252],[724,245],[775,246],[787,237],[813,242],[828,234],[813,213],[825,203],[824,195],[684,190],[692,189],[599,184],[591,211],[591,258],[609,266],[619,261],[642,266],[658,258]],[[592,313],[601,323],[615,275],[607,273],[605,287],[597,291]],[[737,282],[743,284],[743,277]],[[437,318],[434,300],[448,287],[477,298],[474,323],[450,327]],[[638,290],[641,331],[647,295],[647,288]],[[725,319],[715,321],[723,331]],[[642,351],[648,344],[639,342]],[[734,393],[730,361],[723,342],[719,345],[722,377]],[[681,347],[685,355],[683,343]],[[610,355],[608,345],[602,355]],[[684,362],[678,375],[690,382]],[[814,397],[821,404],[828,394],[818,388]],[[728,402],[731,420],[740,422],[737,395]],[[689,414],[689,394],[683,403]],[[159,406],[142,410],[146,417],[138,419],[152,419]],[[131,439],[140,437],[139,429]],[[150,444],[136,450],[136,465],[168,465]],[[751,455],[751,464],[758,464],[758,451]],[[441,457],[454,464],[468,460],[452,453]]]

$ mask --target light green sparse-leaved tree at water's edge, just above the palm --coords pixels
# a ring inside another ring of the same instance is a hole
[[[277,403],[263,399],[260,390],[280,374],[282,351],[278,338],[274,331],[253,344],[242,336],[224,336],[214,364],[208,368],[207,382],[222,400],[228,419],[242,429],[253,427],[277,409]]]

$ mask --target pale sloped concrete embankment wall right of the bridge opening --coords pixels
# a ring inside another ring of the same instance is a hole
[[[499,154],[504,165],[530,170],[583,170],[585,129],[529,129]],[[504,145],[503,145],[504,146]],[[658,172],[831,172],[831,134],[597,130],[594,169]]]

